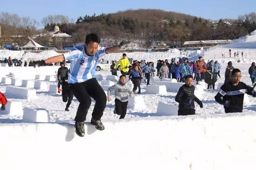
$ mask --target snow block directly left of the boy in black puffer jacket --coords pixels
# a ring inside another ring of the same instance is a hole
[[[171,104],[159,102],[156,112],[161,116],[178,116],[178,106],[179,104],[177,102],[173,102]]]

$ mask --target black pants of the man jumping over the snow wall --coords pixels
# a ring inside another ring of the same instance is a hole
[[[91,97],[95,100],[92,116],[96,120],[100,120],[106,107],[107,96],[96,78],[88,79],[82,83],[70,84],[70,87],[80,103],[76,112],[75,121],[83,122],[86,120],[86,115],[92,102]]]

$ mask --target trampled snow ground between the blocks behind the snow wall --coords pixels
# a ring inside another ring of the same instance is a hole
[[[218,83],[223,83],[224,82],[224,72],[226,68],[226,64],[223,63],[221,64],[221,78],[219,78],[216,82],[216,85]],[[234,64],[235,68],[239,68],[242,71],[242,81],[245,82],[248,85],[251,85],[249,74],[248,74],[248,68],[250,66],[250,63],[236,63]],[[52,66],[52,67],[40,67],[36,69],[40,69],[43,71],[43,69],[48,69],[54,72],[54,70],[57,71],[59,68],[58,66]],[[10,67],[0,67],[0,70],[6,70],[10,69]],[[15,67],[15,69],[19,70],[20,72],[24,71],[24,67]],[[28,68],[27,68],[28,69]],[[34,69],[30,67],[28,70]],[[35,69],[35,70],[36,70]],[[1,71],[2,72],[2,71]],[[23,72],[23,74],[28,74],[28,72]],[[110,75],[111,72],[106,72],[106,71],[100,71],[97,72],[97,74],[105,75],[103,76],[106,77],[106,75]],[[120,73],[119,73],[120,75]],[[155,81],[159,81],[159,78],[156,76],[154,77]],[[44,81],[47,83],[47,85],[51,84],[56,84],[57,82],[48,82]],[[99,81],[101,83],[101,81]],[[161,83],[160,83],[161,84]],[[9,85],[5,84],[0,84],[0,92],[5,93],[6,87]],[[136,94],[138,96],[142,96],[145,101],[146,108],[145,109],[129,109],[128,108],[128,114],[126,116],[126,119],[132,119],[132,118],[137,118],[137,117],[155,117],[155,116],[163,116],[161,114],[158,114],[157,111],[157,105],[159,101],[165,102],[165,103],[173,103],[175,101],[175,95],[176,92],[167,92],[165,95],[158,95],[158,94],[144,94],[146,91],[146,84],[144,81],[142,81],[141,84],[141,94]],[[222,105],[219,105],[216,103],[214,96],[218,92],[217,87],[216,90],[204,90],[203,94],[203,105],[204,107],[201,109],[198,105],[196,105],[196,114],[198,115],[211,115],[211,114],[219,114],[219,113],[224,113],[224,109]],[[79,105],[79,102],[77,99],[73,99],[72,104],[70,105],[70,111],[64,111],[66,103],[62,101],[62,97],[60,94],[50,94],[46,90],[36,90],[38,98],[36,100],[26,100],[26,99],[17,99],[13,96],[10,96],[7,94],[7,98],[9,101],[20,101],[23,105],[23,107],[32,107],[32,108],[44,108],[49,111],[50,114],[50,121],[51,122],[73,122],[74,117],[76,114],[77,107]],[[102,120],[117,120],[118,116],[113,113],[113,110],[115,108],[115,98],[114,95],[112,96],[112,101],[107,103],[106,109],[104,111],[104,115],[102,117]],[[256,111],[256,98],[253,98],[249,96],[249,103],[247,103],[244,106],[244,111],[245,112],[254,112]],[[91,113],[93,111],[94,107],[94,101],[92,102],[92,106],[90,107],[88,111],[88,116],[87,116],[87,121],[90,121],[91,119]],[[8,115],[0,115],[0,123],[7,123],[7,122],[20,122],[20,119],[22,117],[9,117]]]

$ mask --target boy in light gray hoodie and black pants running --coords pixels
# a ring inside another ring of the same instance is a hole
[[[115,90],[114,113],[120,115],[119,119],[125,118],[128,105],[128,93],[131,98],[134,98],[132,88],[126,83],[126,76],[120,76],[118,83],[108,88],[108,102],[111,101],[110,92],[113,90]]]

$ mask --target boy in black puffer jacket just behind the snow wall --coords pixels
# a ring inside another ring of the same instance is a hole
[[[182,85],[175,97],[175,101],[179,103],[178,115],[194,115],[195,104],[194,101],[202,108],[202,101],[196,98],[195,86],[193,84],[193,76],[185,76],[185,85]]]

